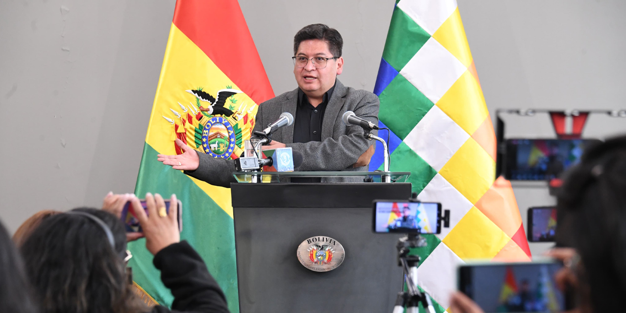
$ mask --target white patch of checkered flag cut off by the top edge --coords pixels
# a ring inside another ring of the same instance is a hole
[[[456,0],[401,0],[398,7],[432,35],[454,12]]]

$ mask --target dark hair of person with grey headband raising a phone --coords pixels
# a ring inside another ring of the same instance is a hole
[[[145,312],[131,289],[123,256],[126,234],[122,222],[98,209],[91,214],[109,227],[81,214],[58,214],[41,222],[21,247],[29,279],[44,313]]]

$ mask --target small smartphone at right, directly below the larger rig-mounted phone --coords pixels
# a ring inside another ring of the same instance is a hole
[[[529,207],[526,227],[528,241],[553,242],[557,231],[557,208]]]

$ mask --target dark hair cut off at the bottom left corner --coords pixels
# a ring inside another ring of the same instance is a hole
[[[24,264],[0,223],[0,312],[36,313],[38,308],[24,274]]]

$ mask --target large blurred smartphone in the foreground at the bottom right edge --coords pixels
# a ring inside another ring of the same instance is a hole
[[[553,260],[464,264],[458,289],[486,313],[562,312],[570,303],[555,282],[562,266]]]

